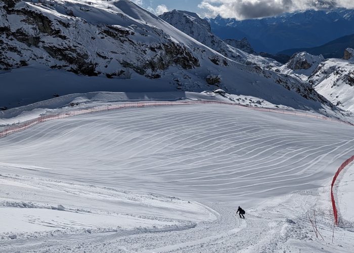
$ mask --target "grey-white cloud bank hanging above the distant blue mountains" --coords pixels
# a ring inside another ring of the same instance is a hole
[[[260,18],[305,9],[354,8],[354,0],[202,0],[207,16]]]

